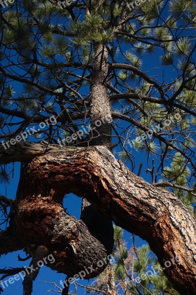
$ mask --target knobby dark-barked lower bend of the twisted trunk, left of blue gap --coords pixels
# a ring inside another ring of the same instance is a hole
[[[39,161],[39,158],[37,158]],[[44,245],[55,259],[48,263],[51,269],[73,276],[88,266],[93,267],[84,278],[98,275],[106,267],[98,262],[107,257],[104,246],[90,234],[82,220],[69,216],[62,207],[63,188],[48,190],[48,176],[40,173],[38,178],[31,173],[39,169],[34,161],[27,165],[21,186],[21,194],[17,200],[17,213],[14,228],[18,239],[24,245]],[[58,167],[53,165],[53,168]],[[32,178],[32,179],[29,179]],[[43,186],[40,181],[45,183]],[[61,178],[61,177],[60,177]],[[58,178],[57,182],[60,180]],[[26,185],[28,183],[28,185]],[[53,194],[54,193],[54,194]]]

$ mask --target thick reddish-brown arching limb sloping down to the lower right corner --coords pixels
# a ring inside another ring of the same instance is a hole
[[[23,198],[32,194],[35,183],[43,195],[52,192],[52,198],[61,199],[70,192],[85,197],[105,218],[146,239],[161,266],[177,257],[179,263],[166,268],[166,275],[179,292],[196,293],[196,219],[176,195],[135,176],[106,148],[49,146],[49,152],[41,156],[45,153],[42,143],[28,145],[29,159],[36,155],[36,148],[40,156],[27,166],[31,183],[25,186]]]

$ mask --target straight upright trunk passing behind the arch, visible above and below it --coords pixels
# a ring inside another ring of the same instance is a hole
[[[91,109],[91,146],[102,145],[111,148],[111,106],[110,97],[105,87],[108,75],[108,53],[104,45],[94,42],[93,78],[90,94]],[[111,220],[105,220],[98,211],[82,199],[81,219],[87,225],[90,233],[106,248],[107,254],[112,253],[114,238]]]

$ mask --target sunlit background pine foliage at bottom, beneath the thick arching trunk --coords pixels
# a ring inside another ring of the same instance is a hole
[[[114,226],[114,237],[114,263],[109,264],[92,285],[83,286],[86,294],[179,295],[147,244],[128,249],[123,230],[117,226]]]

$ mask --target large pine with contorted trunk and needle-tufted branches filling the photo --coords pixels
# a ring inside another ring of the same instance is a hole
[[[195,294],[194,0],[10,2],[0,2],[0,181],[11,181],[14,162],[21,177],[16,199],[0,195],[0,255],[44,246],[56,261],[48,266],[72,277],[111,253],[114,221],[162,266],[178,256],[164,273]],[[137,176],[141,155],[151,184]],[[62,206],[70,192],[83,198],[83,222]],[[126,285],[128,252],[118,245],[114,269]],[[160,278],[154,290],[170,288]]]

